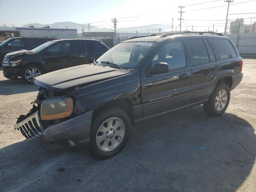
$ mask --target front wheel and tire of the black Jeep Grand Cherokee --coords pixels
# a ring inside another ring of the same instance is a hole
[[[107,159],[118,154],[129,140],[131,127],[131,120],[124,110],[112,108],[102,111],[92,122],[90,131],[92,156],[97,159]]]

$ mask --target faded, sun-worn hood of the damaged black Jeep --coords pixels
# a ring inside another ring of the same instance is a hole
[[[128,73],[130,70],[85,64],[46,73],[36,77],[33,82],[46,89],[63,91],[70,87],[88,85]]]

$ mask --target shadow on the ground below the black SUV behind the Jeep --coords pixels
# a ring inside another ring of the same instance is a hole
[[[39,87],[36,84],[28,84],[21,78],[18,78],[18,80],[0,80],[0,88],[0,95],[12,95],[34,92],[37,91]]]

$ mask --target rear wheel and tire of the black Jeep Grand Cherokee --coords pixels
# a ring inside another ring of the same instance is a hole
[[[209,100],[203,104],[204,111],[210,116],[219,116],[228,108],[230,88],[227,84],[216,86]]]

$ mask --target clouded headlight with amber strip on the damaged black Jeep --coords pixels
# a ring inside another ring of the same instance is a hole
[[[73,112],[74,102],[70,97],[52,97],[41,104],[41,120],[54,120],[70,116]]]

